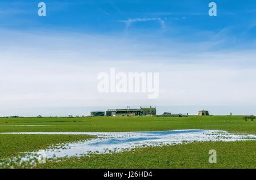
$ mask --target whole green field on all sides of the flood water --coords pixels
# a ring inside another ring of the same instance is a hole
[[[11,127],[12,125],[19,127]],[[22,127],[20,125],[47,125]],[[3,127],[6,126],[6,127]],[[0,118],[0,132],[158,131],[181,129],[226,130],[256,134],[256,121],[241,116]],[[0,135],[0,159],[57,143],[86,140],[86,135]],[[208,152],[216,149],[217,164]],[[21,167],[15,167],[21,168]],[[26,167],[30,168],[30,167]],[[204,142],[137,148],[112,155],[92,155],[47,161],[35,168],[256,168],[256,142]]]

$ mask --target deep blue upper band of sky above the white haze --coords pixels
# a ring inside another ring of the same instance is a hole
[[[214,1],[217,17],[208,16],[210,1],[43,1],[47,16],[37,16],[39,1],[0,1],[1,28],[57,29],[86,33],[158,33],[166,38],[201,41],[226,29],[226,36],[237,42],[253,41],[256,34],[256,2]],[[148,19],[148,20],[147,20]],[[164,22],[164,29],[158,20]],[[161,31],[162,30],[162,31]],[[203,32],[203,34],[199,34]]]

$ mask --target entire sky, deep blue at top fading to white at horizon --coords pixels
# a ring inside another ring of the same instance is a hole
[[[0,107],[8,113],[123,104],[242,105],[239,113],[256,107],[253,0],[51,0],[42,1],[46,17],[38,16],[39,2],[0,0]],[[217,16],[208,15],[210,2]],[[159,72],[159,98],[98,94],[97,74],[112,67]]]

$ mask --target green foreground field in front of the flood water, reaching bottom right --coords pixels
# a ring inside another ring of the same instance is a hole
[[[208,162],[210,149],[217,163]],[[204,142],[165,147],[137,148],[112,155],[61,158],[36,168],[256,168],[256,142]]]

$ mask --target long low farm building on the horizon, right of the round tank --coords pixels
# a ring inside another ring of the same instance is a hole
[[[106,116],[137,116],[137,115],[155,115],[156,108],[140,108],[140,109],[108,109]]]

